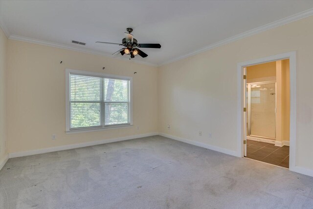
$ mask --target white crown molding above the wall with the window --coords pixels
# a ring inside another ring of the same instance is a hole
[[[28,42],[28,43],[32,43],[32,44],[39,44],[39,45],[44,45],[44,46],[63,48],[63,49],[72,50],[72,51],[79,51],[79,52],[88,53],[88,54],[100,55],[100,56],[105,56],[105,57],[123,60],[123,61],[130,61],[128,58],[125,59],[122,57],[114,57],[111,54],[106,53],[106,52],[102,52],[102,51],[97,51],[97,50],[92,50],[92,49],[87,49],[87,48],[80,48],[80,47],[75,47],[75,46],[69,46],[69,45],[65,45],[65,44],[58,44],[58,43],[48,42],[48,41],[44,41],[44,40],[40,40],[40,39],[28,38],[28,37],[24,37],[24,36],[10,35],[9,39],[16,40],[16,41],[22,41],[22,42]],[[148,62],[142,62],[142,61],[138,61],[138,60],[131,60],[130,62],[157,67],[157,65],[155,65],[155,64],[148,63]]]

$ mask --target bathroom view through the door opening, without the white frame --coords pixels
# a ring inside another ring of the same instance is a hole
[[[289,168],[289,59],[245,67],[245,157]]]

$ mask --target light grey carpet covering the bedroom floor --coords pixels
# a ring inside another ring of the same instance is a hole
[[[1,209],[312,209],[313,177],[161,136],[9,159]]]

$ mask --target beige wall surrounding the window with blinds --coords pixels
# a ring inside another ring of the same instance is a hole
[[[8,40],[7,52],[9,153],[158,131],[156,67],[14,40]],[[134,126],[66,134],[66,68],[133,77]]]

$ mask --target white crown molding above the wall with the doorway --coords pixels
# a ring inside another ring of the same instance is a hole
[[[213,48],[216,48],[216,47],[219,47],[219,46],[223,46],[225,44],[228,44],[228,43],[231,43],[231,42],[234,42],[234,41],[237,41],[237,40],[240,40],[240,39],[243,39],[243,38],[255,35],[255,34],[260,33],[260,32],[264,32],[266,30],[269,30],[269,29],[272,29],[272,28],[275,28],[275,27],[282,26],[284,24],[288,24],[288,23],[291,23],[291,22],[294,22],[294,21],[297,21],[297,20],[300,20],[300,19],[303,19],[303,18],[306,18],[306,17],[310,17],[312,15],[313,15],[313,8],[305,10],[305,11],[300,12],[300,13],[297,13],[295,15],[291,15],[291,16],[289,16],[287,18],[280,19],[278,21],[274,21],[272,23],[268,23],[268,24],[262,25],[260,27],[254,28],[252,30],[248,30],[246,32],[240,33],[238,35],[235,35],[235,36],[232,36],[230,38],[224,39],[222,41],[216,42],[214,44],[211,44],[211,45],[205,46],[203,48],[197,49],[197,50],[192,51],[192,52],[190,52],[188,54],[185,54],[185,55],[176,57],[174,59],[168,60],[166,62],[160,63],[160,64],[158,64],[158,67],[161,67],[161,66],[164,66],[164,65],[167,65],[167,64],[179,61],[181,59],[184,59],[184,58],[187,58],[187,57],[199,54],[199,53],[204,52],[204,51],[208,51],[210,49],[213,49]]]

